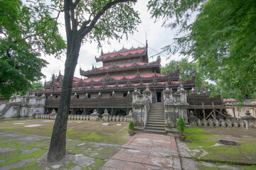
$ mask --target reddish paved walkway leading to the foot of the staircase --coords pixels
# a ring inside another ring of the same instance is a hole
[[[173,136],[139,133],[123,145],[100,170],[181,169]]]

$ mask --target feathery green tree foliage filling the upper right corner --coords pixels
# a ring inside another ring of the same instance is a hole
[[[193,57],[224,97],[256,98],[255,0],[151,0],[148,7],[181,33],[164,50]],[[195,21],[189,21],[192,12]]]

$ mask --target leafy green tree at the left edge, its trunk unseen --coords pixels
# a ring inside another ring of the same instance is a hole
[[[34,4],[35,5],[35,4]],[[41,53],[60,57],[65,43],[46,8],[0,1],[0,95],[26,94],[43,77]]]

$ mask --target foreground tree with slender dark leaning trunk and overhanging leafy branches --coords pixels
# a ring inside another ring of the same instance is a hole
[[[58,0],[54,8],[63,11],[67,37],[65,73],[60,95],[57,118],[50,140],[48,161],[54,162],[65,156],[66,131],[73,75],[78,63],[82,42],[105,38],[122,38],[133,33],[140,22],[139,13],[132,8],[136,0]]]

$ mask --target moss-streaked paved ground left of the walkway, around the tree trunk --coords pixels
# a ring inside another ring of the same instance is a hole
[[[46,155],[53,123],[1,121],[0,169],[99,169],[130,138],[127,123],[106,126],[100,122],[69,121],[67,155],[61,162],[49,164]]]

